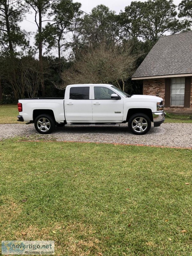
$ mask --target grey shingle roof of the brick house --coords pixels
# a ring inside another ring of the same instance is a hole
[[[192,31],[160,37],[132,77],[192,73]]]

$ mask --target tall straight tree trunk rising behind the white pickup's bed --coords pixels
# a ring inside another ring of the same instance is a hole
[[[42,97],[45,96],[44,76],[43,76],[43,57],[42,57],[42,13],[39,9],[39,71],[41,76]]]

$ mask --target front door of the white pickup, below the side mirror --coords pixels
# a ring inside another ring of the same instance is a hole
[[[120,123],[123,120],[123,98],[111,99],[116,93],[104,86],[94,86],[94,100],[92,100],[93,122]]]

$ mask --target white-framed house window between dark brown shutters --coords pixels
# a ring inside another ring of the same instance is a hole
[[[171,105],[184,106],[185,78],[172,79]]]

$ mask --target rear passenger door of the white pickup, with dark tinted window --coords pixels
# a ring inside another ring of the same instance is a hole
[[[68,123],[92,122],[90,86],[69,86],[65,97],[65,117]]]

